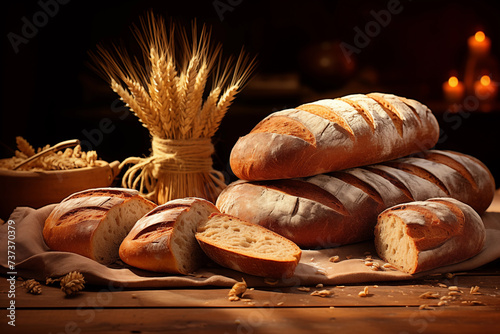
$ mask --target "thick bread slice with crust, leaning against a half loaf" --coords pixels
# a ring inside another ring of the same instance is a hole
[[[256,224],[213,213],[200,224],[196,239],[214,262],[250,275],[293,276],[302,251],[292,241]]]

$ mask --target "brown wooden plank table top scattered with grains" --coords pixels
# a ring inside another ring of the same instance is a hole
[[[43,285],[41,295],[32,295],[21,281],[14,287],[7,278],[0,279],[1,333],[500,333],[500,259],[467,273],[416,281],[250,287],[239,301],[228,300],[229,288],[87,286],[68,298]],[[368,296],[358,296],[366,286]],[[480,294],[471,293],[474,286]],[[15,297],[9,296],[13,289]],[[331,294],[311,295],[320,290]],[[438,298],[422,298],[427,292]],[[457,296],[446,299],[450,292]]]

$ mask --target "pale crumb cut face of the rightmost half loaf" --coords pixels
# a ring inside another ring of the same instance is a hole
[[[375,242],[379,255],[403,271],[413,272],[418,253],[415,242],[406,234],[406,223],[397,216],[389,215],[383,218],[378,228]]]

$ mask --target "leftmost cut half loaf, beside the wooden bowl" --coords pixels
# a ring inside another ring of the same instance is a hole
[[[118,260],[118,248],[132,226],[155,206],[136,190],[80,191],[54,208],[45,221],[43,237],[52,250],[110,264]]]

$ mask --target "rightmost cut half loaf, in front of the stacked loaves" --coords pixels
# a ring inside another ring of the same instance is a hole
[[[433,198],[383,211],[375,226],[375,247],[384,261],[415,274],[475,256],[485,235],[481,217],[470,206]]]

